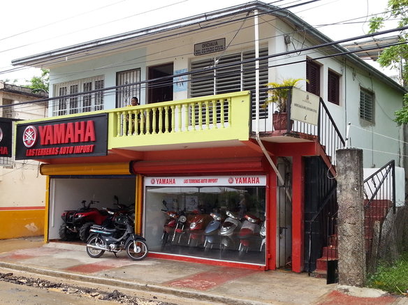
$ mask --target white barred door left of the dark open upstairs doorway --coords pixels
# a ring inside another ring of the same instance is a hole
[[[116,93],[116,107],[126,107],[131,105],[131,98],[136,96],[140,101],[140,69],[127,70],[116,74],[117,86],[129,84],[129,86],[120,87]]]

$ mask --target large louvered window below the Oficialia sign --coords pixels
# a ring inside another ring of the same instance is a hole
[[[259,50],[259,57],[268,55],[268,47]],[[255,50],[224,54],[221,58],[211,57],[191,61],[191,98],[199,96],[210,96],[214,94],[226,94],[236,91],[256,89],[255,61],[242,63],[248,59],[255,59]],[[214,67],[228,65],[224,68]],[[213,69],[215,68],[215,69]],[[259,84],[268,83],[268,59],[259,61]],[[253,96],[253,100],[255,96]],[[227,107],[228,104],[224,104]],[[252,117],[255,117],[255,103],[252,101]],[[268,112],[260,109],[261,118],[267,117]]]

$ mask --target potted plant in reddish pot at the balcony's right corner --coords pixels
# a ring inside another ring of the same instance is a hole
[[[304,79],[289,77],[282,80],[282,82],[269,82],[268,84],[265,85],[268,86],[270,89],[277,88],[268,91],[268,98],[265,99],[265,103],[262,106],[265,108],[270,103],[275,104],[275,111],[272,114],[272,124],[275,131],[282,131],[287,129],[288,126],[287,105],[289,90],[291,90],[292,87],[300,88],[298,84],[301,80]],[[291,124],[293,124],[293,121],[291,121]]]

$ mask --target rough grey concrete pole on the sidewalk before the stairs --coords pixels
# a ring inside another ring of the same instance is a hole
[[[363,287],[366,278],[363,150],[340,149],[336,158],[339,284]]]

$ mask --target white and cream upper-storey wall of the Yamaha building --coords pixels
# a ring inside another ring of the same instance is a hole
[[[191,34],[183,32],[177,38],[170,40],[152,40],[149,44],[140,45],[140,47],[133,45],[133,47],[122,49],[115,46],[111,47],[110,52],[100,52],[98,57],[86,61],[68,58],[59,66],[51,69],[50,80],[51,83],[59,83],[104,75],[105,87],[114,87],[116,85],[116,73],[123,70],[140,68],[142,80],[145,80],[149,66],[173,62],[174,70],[189,69],[189,63],[192,60],[221,55],[221,53],[214,53],[195,57],[195,43],[226,38],[228,45],[226,53],[237,52],[238,50],[254,50],[253,22],[253,18],[248,17],[241,29],[241,23],[235,22],[227,27],[222,27],[221,30],[217,27],[206,28],[204,24],[201,24],[203,27],[201,31],[194,31]],[[260,44],[268,45],[269,54],[300,50],[303,47],[313,45],[311,41],[307,40],[305,33],[272,16],[263,16],[259,29]],[[293,34],[295,30],[297,32]],[[292,43],[289,45],[284,43],[285,34],[291,35]],[[340,75],[340,105],[332,103],[326,103],[326,105],[335,119],[342,137],[346,137],[347,124],[351,123],[349,145],[363,149],[365,168],[379,168],[391,159],[395,159],[398,166],[404,166],[402,161],[402,156],[405,155],[405,147],[402,143],[403,132],[402,128],[397,127],[393,122],[394,112],[402,107],[402,93],[391,89],[382,80],[376,79],[370,70],[361,70],[350,61],[344,61],[341,57],[322,59],[321,57],[327,56],[328,52],[319,49],[273,57],[269,61],[271,66],[270,81],[279,81],[285,77],[305,78],[305,59],[315,59],[321,64],[321,97],[323,101],[327,101],[328,70],[335,71]],[[293,64],[295,62],[296,64]],[[305,89],[305,84],[303,81],[303,89]],[[375,117],[372,124],[359,118],[360,87],[375,94]],[[188,91],[174,94],[175,100],[188,97]],[[146,91],[142,90],[141,104],[145,103],[145,99]],[[114,107],[115,94],[111,94],[105,98],[105,109]],[[272,116],[270,115],[270,117]],[[271,126],[270,119],[268,119],[267,124],[260,124],[260,126],[261,128],[262,126]]]

